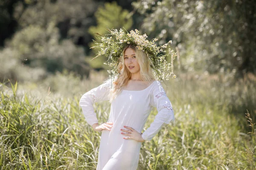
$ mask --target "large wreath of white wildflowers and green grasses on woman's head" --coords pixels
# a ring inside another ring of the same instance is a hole
[[[101,43],[93,40],[96,46],[93,46],[92,48],[100,48],[100,51],[97,53],[96,57],[101,55],[108,57],[107,63],[104,64],[111,67],[111,69],[108,70],[110,77],[115,77],[119,74],[117,68],[117,65],[119,64],[119,57],[122,56],[122,50],[128,44],[136,46],[139,50],[145,51],[150,59],[150,66],[154,70],[153,74],[157,80],[168,80],[171,76],[174,78],[176,77],[171,71],[171,63],[166,61],[166,56],[171,55],[173,59],[175,59],[177,56],[177,53],[173,52],[171,48],[168,50],[169,53],[166,54],[166,48],[167,46],[170,47],[172,40],[164,45],[157,46],[155,45],[155,42],[157,41],[156,38],[148,41],[146,40],[148,36],[146,34],[139,35],[139,31],[137,29],[135,29],[135,31],[131,30],[130,33],[128,33],[128,31],[125,33],[125,31],[122,28],[120,31],[117,29],[111,29],[108,30],[110,34],[106,34],[105,36],[95,33],[101,36],[96,37],[97,39],[101,40]],[[110,62],[109,59],[111,59],[112,62]]]

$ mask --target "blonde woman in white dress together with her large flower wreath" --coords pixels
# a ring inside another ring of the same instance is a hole
[[[159,80],[167,80],[173,73],[166,62],[165,48],[172,43],[155,45],[157,39],[146,40],[146,34],[109,30],[111,37],[102,36],[99,55],[105,55],[112,75],[97,88],[85,93],[79,102],[87,123],[101,131],[97,170],[136,170],[141,143],[150,141],[164,126],[174,121],[172,104]],[[159,55],[160,54],[160,55]],[[169,48],[169,54],[177,55]],[[99,56],[98,55],[98,56]],[[96,57],[98,57],[96,56]],[[99,125],[93,103],[108,100],[111,111],[108,121]],[[143,133],[143,127],[152,110],[157,115]]]

